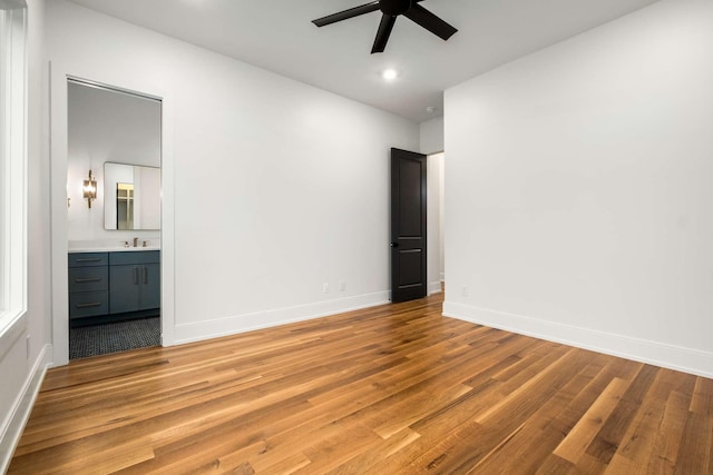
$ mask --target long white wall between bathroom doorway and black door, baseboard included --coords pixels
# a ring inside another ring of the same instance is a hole
[[[48,12],[65,70],[172,91],[177,343],[387,300],[389,150],[416,149],[418,125],[62,0]]]

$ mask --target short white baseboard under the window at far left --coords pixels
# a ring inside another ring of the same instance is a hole
[[[12,415],[8,427],[0,438],[0,473],[6,473],[10,466],[14,448],[20,443],[20,437],[25,431],[35,400],[40,392],[47,368],[51,365],[52,346],[45,345],[39,356],[35,360],[32,370],[30,372],[20,395],[16,399],[14,405],[10,409]]]

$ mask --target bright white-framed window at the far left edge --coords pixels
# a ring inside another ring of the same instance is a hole
[[[0,0],[0,335],[27,308],[27,4]]]

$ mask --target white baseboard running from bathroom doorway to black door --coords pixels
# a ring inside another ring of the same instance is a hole
[[[335,300],[318,301],[254,314],[236,315],[195,324],[176,325],[175,344],[218,338],[277,325],[310,320],[344,311],[359,310],[389,303],[388,291],[378,291]]]

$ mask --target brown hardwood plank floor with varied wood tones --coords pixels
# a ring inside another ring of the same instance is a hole
[[[713,473],[712,379],[441,303],[51,369],[9,473]]]

